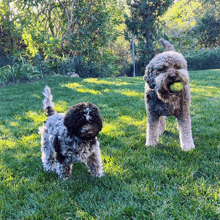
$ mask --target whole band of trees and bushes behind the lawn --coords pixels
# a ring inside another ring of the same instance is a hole
[[[0,0],[0,66],[9,65],[0,83],[68,72],[132,76],[132,35],[137,75],[162,51],[161,37],[189,69],[220,68],[219,11],[215,0]]]

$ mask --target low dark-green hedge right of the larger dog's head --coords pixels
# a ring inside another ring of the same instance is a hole
[[[189,70],[220,69],[220,47],[200,50],[194,56],[186,57]]]

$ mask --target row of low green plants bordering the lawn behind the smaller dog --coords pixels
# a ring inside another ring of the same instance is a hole
[[[54,74],[67,75],[76,72],[81,78],[118,76],[119,69],[116,65],[116,57],[107,52],[97,61],[86,60],[85,57],[45,57],[36,54],[33,59],[22,57],[13,58],[10,65],[0,68],[0,84],[7,82],[20,82],[33,77],[50,76]]]

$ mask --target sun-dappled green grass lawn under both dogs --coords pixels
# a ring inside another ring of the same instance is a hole
[[[220,219],[220,71],[190,76],[190,152],[180,149],[173,117],[158,146],[145,147],[142,77],[52,77],[0,88],[0,219]],[[67,181],[43,170],[46,84],[59,112],[81,101],[100,108],[103,178],[82,163]]]

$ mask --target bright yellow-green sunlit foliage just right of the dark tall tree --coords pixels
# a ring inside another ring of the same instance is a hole
[[[193,36],[192,28],[196,24],[196,17],[201,16],[200,0],[176,1],[167,12],[160,17],[162,33],[174,44],[175,48],[181,48],[184,55],[192,55],[197,49],[197,39]]]

